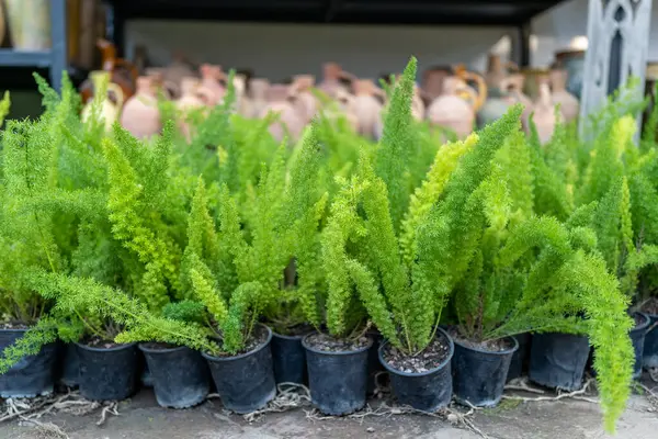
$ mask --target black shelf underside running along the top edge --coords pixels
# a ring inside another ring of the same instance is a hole
[[[121,20],[521,25],[561,0],[107,0]]]

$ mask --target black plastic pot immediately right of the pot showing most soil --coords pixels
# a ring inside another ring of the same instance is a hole
[[[512,356],[519,349],[514,337],[508,340],[512,347],[501,351],[472,348],[454,340],[453,393],[458,403],[492,407],[500,402]]]

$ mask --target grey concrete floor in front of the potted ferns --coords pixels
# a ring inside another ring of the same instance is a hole
[[[647,383],[648,384],[648,383]],[[653,383],[658,387],[658,384]],[[658,390],[658,389],[657,389]],[[526,394],[533,397],[536,395]],[[308,409],[308,408],[307,408]],[[634,395],[619,423],[619,439],[658,438],[658,407],[642,395]],[[455,428],[450,423],[423,415],[333,418],[309,420],[302,408],[268,414],[248,424],[240,416],[223,412],[218,399],[186,410],[157,406],[150,391],[141,391],[123,402],[120,416],[110,416],[99,427],[99,414],[76,417],[44,417],[70,439],[288,439],[288,438],[395,438],[395,439],[477,439],[474,431]],[[479,410],[474,425],[494,439],[599,439],[606,438],[595,404],[583,401],[503,403],[495,409]],[[45,439],[38,428],[10,421],[0,425],[0,439]]]

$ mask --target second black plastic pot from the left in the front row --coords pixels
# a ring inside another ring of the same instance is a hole
[[[137,345],[94,348],[76,344],[80,360],[80,394],[91,401],[120,401],[135,393],[138,376]]]

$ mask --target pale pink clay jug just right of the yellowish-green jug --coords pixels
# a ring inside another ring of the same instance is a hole
[[[137,92],[129,98],[121,114],[121,125],[137,138],[149,138],[162,128],[157,88],[152,78],[137,78]]]

